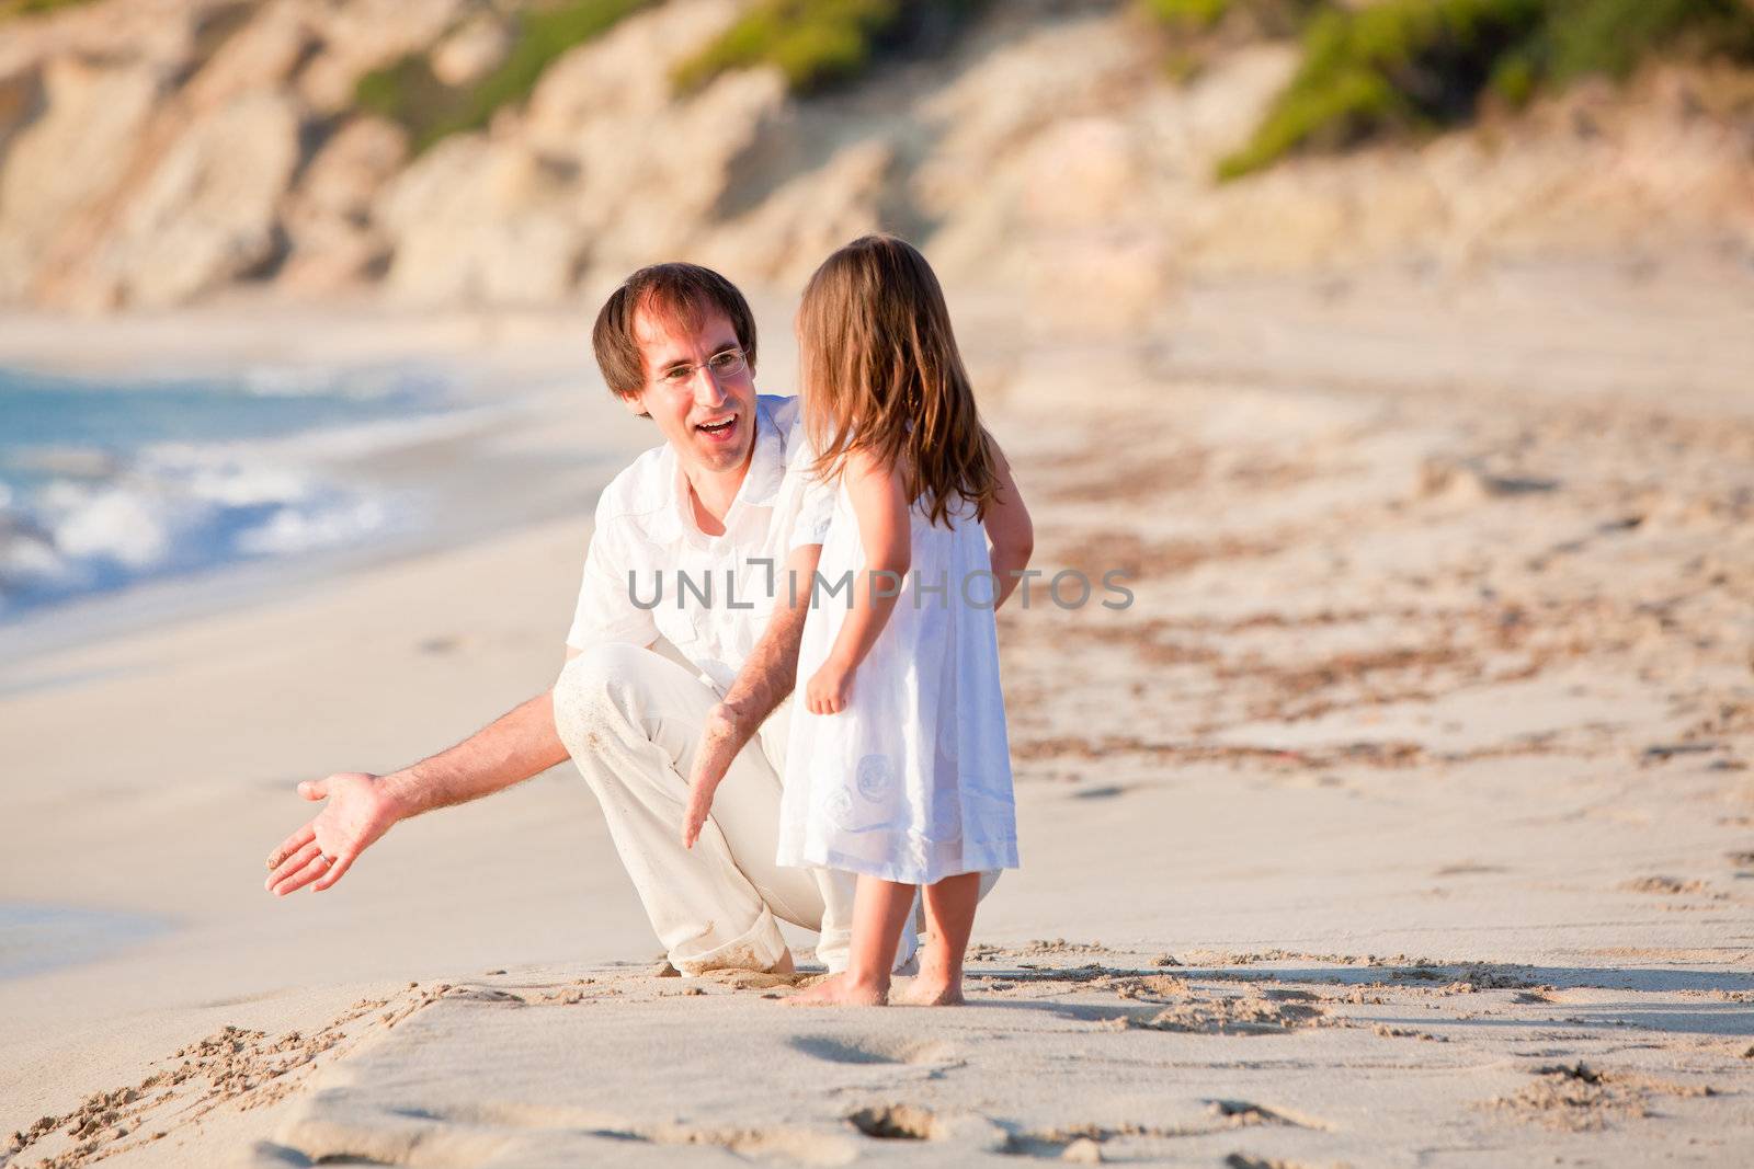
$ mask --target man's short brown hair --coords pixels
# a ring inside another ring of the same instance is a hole
[[[645,365],[633,337],[633,319],[642,310],[688,329],[698,329],[707,314],[723,312],[737,329],[749,370],[756,368],[756,317],[735,284],[700,265],[651,265],[609,294],[591,329],[596,365],[612,393],[630,398],[645,386]]]

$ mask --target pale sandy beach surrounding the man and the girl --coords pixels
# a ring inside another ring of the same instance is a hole
[[[1082,340],[951,303],[1044,570],[1000,622],[1024,864],[968,1006],[660,976],[570,764],[261,890],[298,780],[553,680],[584,496],[0,661],[0,906],[35,911],[0,1165],[1754,1155],[1754,273],[1189,284]],[[89,358],[56,328],[0,363]],[[567,314],[356,328],[584,361]],[[544,401],[502,442],[649,445]],[[1063,608],[1063,570],[1133,603]]]

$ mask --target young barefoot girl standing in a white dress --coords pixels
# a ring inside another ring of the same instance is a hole
[[[847,971],[791,1001],[886,1003],[924,887],[931,945],[909,1001],[961,1003],[980,876],[1017,866],[993,610],[1028,564],[1030,514],[914,247],[873,235],[830,256],[798,340],[816,471],[838,494],[798,654],[779,862],[856,873],[858,892]]]

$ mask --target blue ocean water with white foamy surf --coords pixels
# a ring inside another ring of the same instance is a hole
[[[417,492],[337,461],[454,414],[419,370],[89,380],[0,370],[0,626],[149,580],[382,540]]]

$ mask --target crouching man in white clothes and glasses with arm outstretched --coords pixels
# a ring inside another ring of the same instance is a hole
[[[267,887],[330,889],[398,820],[570,755],[679,971],[789,971],[777,920],[821,931],[817,957],[842,969],[852,880],[774,864],[782,701],[833,507],[807,473],[798,403],[756,394],[749,305],[696,265],[635,272],[591,342],[609,389],[665,442],[598,499],[560,678],[402,771],[300,783],[300,796],[328,803],[268,857]],[[805,584],[788,589],[788,571]],[[693,668],[658,654],[660,636]],[[726,778],[686,848],[688,782],[709,769]],[[914,948],[909,929],[898,969]]]

